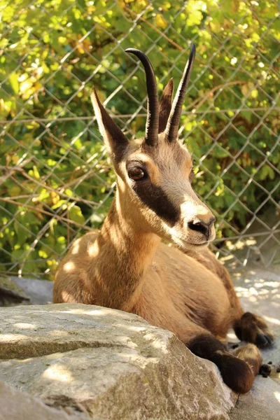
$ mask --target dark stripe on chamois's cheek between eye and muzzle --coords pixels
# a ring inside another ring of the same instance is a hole
[[[153,185],[149,180],[136,181],[132,188],[140,200],[169,225],[174,226],[179,221],[180,210],[169,200],[162,188]]]

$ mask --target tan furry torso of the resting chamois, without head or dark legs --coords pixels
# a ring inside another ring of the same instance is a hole
[[[113,203],[110,216],[115,211]],[[174,332],[183,342],[205,329],[225,337],[242,311],[232,307],[219,276],[225,269],[214,255],[204,248],[197,255],[198,261],[160,243],[153,234],[142,233],[125,241],[120,232],[113,237],[116,232],[111,231],[111,223],[105,221],[100,233],[87,233],[74,242],[57,272],[54,302],[97,304],[133,312]]]

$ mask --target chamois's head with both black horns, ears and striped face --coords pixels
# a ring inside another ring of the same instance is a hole
[[[167,83],[159,103],[155,74],[148,57],[134,48],[126,52],[140,59],[146,73],[145,137],[129,142],[102,106],[94,88],[91,96],[99,130],[117,174],[117,209],[121,209],[123,217],[133,223],[134,228],[172,240],[180,248],[206,245],[215,237],[215,218],[193,191],[193,160],[186,146],[178,140],[195,45],[192,45],[173,104],[173,79]]]

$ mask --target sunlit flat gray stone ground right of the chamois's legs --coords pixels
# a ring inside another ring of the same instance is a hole
[[[240,395],[230,414],[231,420],[279,420],[280,419],[280,272],[275,269],[247,267],[236,269],[232,278],[246,311],[259,314],[275,335],[271,349],[262,350],[263,362],[272,362],[272,374],[258,376],[252,391]],[[234,341],[234,336],[229,336]]]

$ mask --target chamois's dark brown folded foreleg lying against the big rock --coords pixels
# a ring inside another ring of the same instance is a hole
[[[247,344],[234,355],[211,334],[197,335],[186,345],[196,356],[214,362],[221,372],[223,381],[233,391],[237,393],[250,391],[262,364],[262,356],[256,346]]]

